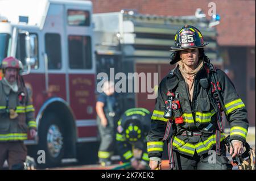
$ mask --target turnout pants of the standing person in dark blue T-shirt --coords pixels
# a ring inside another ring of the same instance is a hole
[[[108,125],[103,127],[101,125],[100,117],[97,117],[98,131],[100,132],[101,144],[98,150],[98,158],[100,162],[110,161],[110,157],[114,151],[114,117],[106,115]]]

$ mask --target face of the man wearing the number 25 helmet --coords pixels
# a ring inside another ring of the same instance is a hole
[[[180,50],[180,58],[183,64],[195,69],[199,60],[199,50],[197,48]]]

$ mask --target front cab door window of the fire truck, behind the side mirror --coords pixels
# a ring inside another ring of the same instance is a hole
[[[31,60],[34,62],[34,65],[31,66],[31,69],[39,68],[39,54],[38,54],[38,35],[36,33],[30,33],[30,36],[34,36],[35,41],[31,41],[31,49],[35,55]],[[16,48],[16,58],[22,61],[23,65],[26,65],[26,44],[25,44],[25,33],[19,33],[17,48]]]

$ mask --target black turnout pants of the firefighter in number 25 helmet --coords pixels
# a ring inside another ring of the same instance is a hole
[[[203,155],[180,154],[174,151],[175,170],[231,170],[232,165],[226,157],[226,149],[222,146],[221,155],[215,154],[215,146]]]

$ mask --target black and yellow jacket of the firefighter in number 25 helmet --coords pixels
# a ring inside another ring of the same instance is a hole
[[[217,81],[220,82],[221,95],[226,108],[226,114],[230,122],[231,140],[245,142],[248,121],[245,104],[238,96],[233,83],[228,76],[217,69]],[[208,87],[201,86],[200,80],[207,80]],[[162,157],[163,136],[166,131],[167,119],[164,115],[164,102],[167,100],[167,91],[179,92],[179,101],[181,109],[174,111],[175,117],[183,117],[184,122],[175,124],[176,133],[173,138],[172,148],[182,154],[193,156],[195,151],[198,155],[208,153],[216,144],[217,117],[216,111],[212,106],[210,82],[208,80],[207,70],[203,66],[196,74],[193,91],[193,100],[189,100],[189,93],[183,76],[179,71],[179,66],[170,74],[162,79],[158,89],[155,109],[151,117],[151,131],[147,137],[148,157]],[[213,124],[211,131],[201,136],[183,136],[184,131],[200,132],[210,123]],[[225,136],[221,133],[221,141]]]

